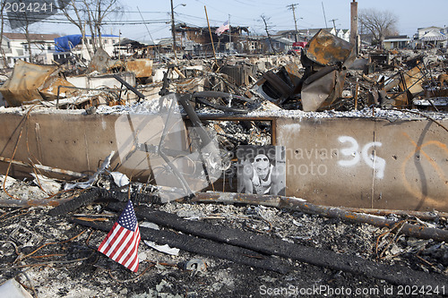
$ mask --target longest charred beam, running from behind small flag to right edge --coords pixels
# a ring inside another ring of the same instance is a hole
[[[109,207],[121,211],[125,208],[125,205],[114,203],[109,204]],[[221,243],[220,245],[236,245],[266,255],[277,255],[315,266],[383,279],[394,285],[448,286],[448,278],[444,276],[428,274],[400,265],[380,264],[355,255],[339,254],[334,251],[288,243],[263,234],[254,234],[205,222],[189,221],[177,217],[177,215],[147,207],[136,207],[135,214],[138,218],[144,218],[159,226],[166,226],[185,234],[207,238],[213,242]]]

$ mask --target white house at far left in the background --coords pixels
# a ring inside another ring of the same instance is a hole
[[[29,34],[31,44],[31,55],[38,64],[52,64],[55,52],[55,38],[57,34]],[[17,60],[30,62],[29,43],[24,33],[4,33],[2,49],[6,57],[8,67],[13,67]],[[0,59],[3,65],[3,59]]]

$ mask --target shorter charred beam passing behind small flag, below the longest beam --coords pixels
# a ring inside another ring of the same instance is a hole
[[[80,219],[73,219],[72,222],[105,232],[108,232],[113,225],[113,223],[89,222]],[[168,244],[169,246],[176,247],[183,251],[190,251],[218,259],[231,260],[235,263],[254,268],[261,268],[263,270],[270,270],[281,274],[287,273],[290,269],[288,264],[277,258],[234,245],[215,243],[211,240],[197,238],[187,234],[176,234],[175,232],[154,230],[147,227],[140,227],[140,234],[144,240],[150,240],[160,244]]]

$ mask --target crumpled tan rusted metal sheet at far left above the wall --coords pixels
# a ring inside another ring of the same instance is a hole
[[[9,106],[22,106],[34,99],[56,98],[59,85],[73,86],[59,75],[57,66],[30,64],[20,60],[0,92]]]

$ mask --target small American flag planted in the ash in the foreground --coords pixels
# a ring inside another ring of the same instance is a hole
[[[118,221],[103,242],[99,244],[98,251],[122,264],[125,268],[137,272],[139,269],[139,244],[140,230],[133,203],[129,200]]]

